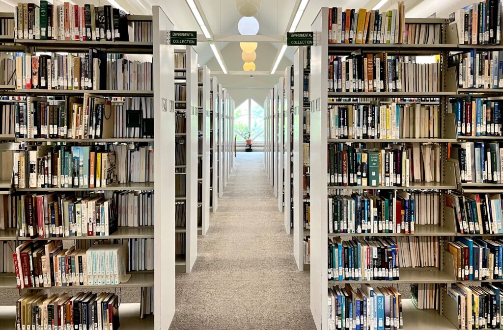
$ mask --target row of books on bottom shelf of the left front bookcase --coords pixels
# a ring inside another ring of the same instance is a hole
[[[87,328],[117,330],[119,299],[115,293],[25,293],[16,301],[16,328]]]

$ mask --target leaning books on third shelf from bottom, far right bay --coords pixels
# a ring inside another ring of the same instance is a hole
[[[503,233],[500,194],[451,192],[446,195],[446,206],[453,209],[460,234]]]

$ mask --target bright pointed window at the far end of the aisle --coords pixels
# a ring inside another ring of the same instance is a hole
[[[264,108],[251,98],[239,104],[234,109],[234,133],[240,142],[244,142],[248,134],[252,141],[262,141]]]

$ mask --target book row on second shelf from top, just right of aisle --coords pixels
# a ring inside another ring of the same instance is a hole
[[[387,53],[328,57],[329,92],[437,92],[440,63]]]

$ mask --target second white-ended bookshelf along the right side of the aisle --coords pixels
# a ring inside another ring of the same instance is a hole
[[[308,190],[305,188],[305,176],[309,174],[309,166],[305,160],[304,143],[309,140],[309,102],[304,101],[304,76],[309,73],[305,68],[304,58],[306,47],[298,47],[294,54],[293,64],[293,254],[299,270],[309,270],[305,260],[304,240],[309,238],[309,228],[305,218],[305,207],[309,205]]]

